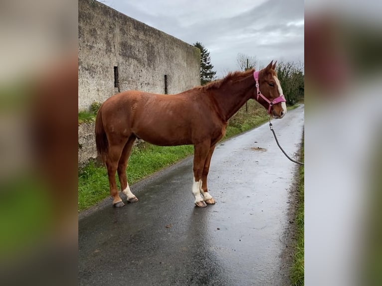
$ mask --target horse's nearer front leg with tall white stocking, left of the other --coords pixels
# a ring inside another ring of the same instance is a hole
[[[203,197],[200,195],[200,189],[202,186],[202,173],[204,169],[204,162],[209,152],[210,142],[204,141],[202,143],[195,144],[193,153],[193,183],[192,194],[195,197],[195,206],[203,208],[206,207],[206,203]]]

